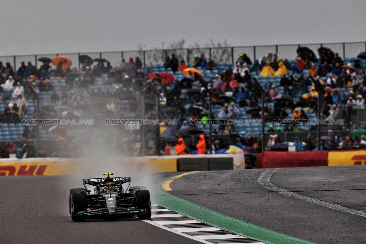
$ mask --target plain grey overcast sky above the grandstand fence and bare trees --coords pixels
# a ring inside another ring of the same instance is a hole
[[[0,56],[366,41],[365,0],[3,0],[0,18]]]

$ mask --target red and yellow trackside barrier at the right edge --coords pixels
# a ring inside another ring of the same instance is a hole
[[[257,168],[365,165],[366,150],[257,153]]]

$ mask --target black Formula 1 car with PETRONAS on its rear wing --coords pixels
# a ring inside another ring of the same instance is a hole
[[[130,187],[131,177],[83,179],[84,188],[70,189],[70,215],[74,221],[96,217],[137,215],[139,219],[151,217],[150,192],[142,186]],[[126,190],[122,184],[128,183]],[[94,192],[86,185],[94,186]],[[128,190],[127,190],[128,189]]]

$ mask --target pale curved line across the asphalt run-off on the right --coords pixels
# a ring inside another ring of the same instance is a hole
[[[366,213],[363,211],[358,211],[355,209],[349,209],[348,207],[343,207],[341,205],[335,204],[335,203],[329,203],[329,202],[324,202],[315,198],[310,198],[308,196],[303,196],[300,194],[297,194],[295,192],[292,191],[288,191],[286,189],[280,188],[277,185],[271,183],[271,179],[273,174],[279,170],[279,168],[277,169],[267,169],[266,171],[262,172],[261,175],[258,177],[257,182],[262,185],[263,187],[270,189],[272,191],[284,194],[286,196],[291,196],[293,198],[297,198],[300,200],[305,200],[307,202],[311,202],[311,203],[316,203],[319,204],[321,206],[324,207],[329,207],[330,209],[334,209],[334,210],[338,210],[338,211],[343,211],[346,213],[350,213],[350,214],[355,214],[355,215],[359,215],[361,217],[366,217]]]

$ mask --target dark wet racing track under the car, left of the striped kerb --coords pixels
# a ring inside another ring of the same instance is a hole
[[[82,187],[79,177],[0,177],[0,185],[2,244],[199,243],[137,218],[71,221],[68,189]]]

